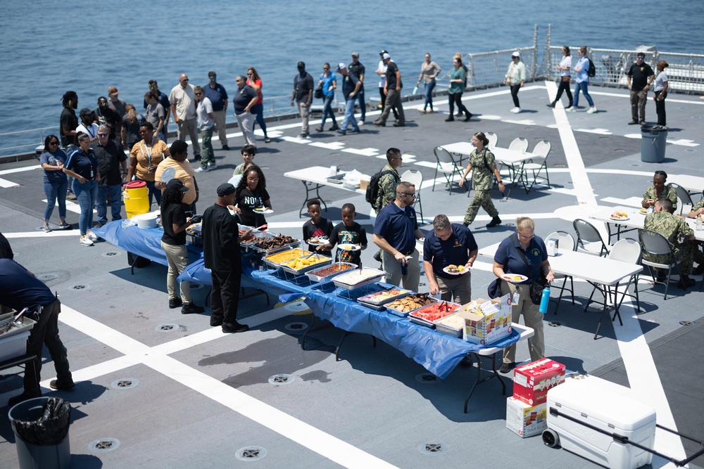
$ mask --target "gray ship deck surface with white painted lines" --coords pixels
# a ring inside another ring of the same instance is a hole
[[[555,115],[545,107],[552,91],[548,96],[543,82],[528,84],[520,92],[524,112],[519,115],[508,112],[513,107],[508,93],[505,87],[465,93],[465,105],[475,115],[470,122],[444,122],[446,98],[438,97],[436,110],[443,113],[423,115],[417,112],[422,101],[406,103],[405,128],[391,127],[391,120],[388,127],[377,128],[371,122],[378,113],[367,113],[367,124],[359,135],[313,131],[307,142],[290,139],[300,133],[299,120],[270,122],[273,141],[265,144],[259,134],[255,158],[268,179],[275,209],[268,217],[270,229],[300,236],[300,226],[306,220],[298,218],[303,200],[301,182],[285,178],[284,172],[336,164],[373,174],[384,165],[384,152],[391,146],[404,153],[401,172],[420,169],[424,176],[420,192],[425,219],[432,221],[434,215],[446,213],[460,222],[469,199],[464,189],[456,186],[449,195],[444,179],[439,179],[432,191],[432,183],[427,182],[434,176],[432,149],[466,141],[476,131],[492,131],[498,135],[498,146],[503,147],[517,136],[529,140],[529,149],[540,140],[550,141],[548,165],[553,187],[536,186],[529,195],[516,188],[507,201],[500,201],[495,190],[494,203],[504,223],[487,230],[484,224],[489,217],[480,210],[470,226],[479,247],[508,236],[515,230],[515,217],[523,214],[534,217],[536,234],[544,236],[555,230],[572,233],[572,219],[586,217],[586,211],[575,197]],[[669,140],[674,143],[667,146],[665,163],[656,165],[641,162],[639,127],[626,124],[630,115],[627,91],[592,87],[591,95],[599,112],[587,115],[584,108],[567,113],[567,120],[598,205],[614,206],[619,205],[618,199],[640,198],[656,169],[704,176],[700,165],[704,100],[681,94],[667,98],[672,126]],[[648,121],[654,122],[652,102],[647,112]],[[312,122],[314,129],[318,121]],[[214,202],[215,187],[227,181],[241,162],[241,136],[230,138],[230,151],[220,150],[217,139],[213,143],[218,169],[197,175],[199,212]],[[319,143],[325,148],[317,146]],[[350,149],[367,155],[344,151]],[[445,380],[423,382],[419,376],[426,373],[425,368],[381,341],[372,347],[366,335],[346,338],[341,361],[336,362],[334,347],[343,332],[329,324],[308,336],[303,351],[298,340],[301,332],[286,326],[308,323],[310,314],[294,314],[287,307],[272,309],[277,303],[275,296],[271,305],[261,295],[240,302],[241,316],[252,326],[244,334],[211,330],[209,309],[206,314],[190,316],[168,309],[165,267],[151,264],[135,269],[132,276],[126,252],[108,243],[85,248],[77,242],[77,229],[48,234],[38,230],[44,209],[41,169],[6,172],[32,165],[37,162],[0,166],[1,179],[19,184],[0,188],[0,231],[8,236],[20,264],[37,276],[56,276],[46,283],[61,295],[61,337],[68,347],[77,386],[70,392],[49,390],[54,370],[48,354],[42,383],[46,395],[61,396],[73,405],[70,442],[74,467],[225,468],[244,465],[236,454],[249,446],[266,450],[266,456],[257,462],[260,468],[368,468],[384,464],[398,468],[519,468],[526,461],[540,461],[543,468],[594,467],[567,451],[546,448],[540,437],[521,439],[507,430],[505,397],[495,380],[477,388],[470,412],[464,414],[462,403],[475,368],[458,367]],[[362,195],[330,187],[322,188],[321,195],[329,205],[324,217],[337,223],[341,205],[351,202],[357,207],[358,221],[365,224],[367,233],[372,231],[369,206]],[[58,222],[57,212],[54,210],[52,223]],[[69,212],[68,221],[76,228],[77,219],[76,212]],[[371,234],[369,239],[371,243]],[[373,247],[363,252],[365,264],[376,266],[374,252]],[[494,277],[488,260],[479,261],[472,271],[472,297],[486,295],[486,286]],[[701,276],[696,279],[698,288]],[[73,289],[75,285],[84,288]],[[420,289],[427,291],[425,277],[421,285]],[[635,330],[634,337],[645,338],[649,345],[646,350],[650,349],[657,368],[654,383],[662,383],[665,406],[672,411],[677,428],[704,439],[704,418],[698,411],[704,381],[698,347],[702,294],[696,288],[683,291],[671,285],[672,297],[663,301],[661,286],[653,287],[644,276],[639,284],[643,312],[636,314],[634,307],[624,303],[626,324],[605,321],[600,337],[593,340],[601,311],[583,312],[591,287],[575,281],[576,304],[562,300],[559,314],[553,314],[554,305],[546,314],[546,321],[556,326],[546,325],[546,354],[570,371],[634,385],[640,381],[631,378],[642,377],[626,372],[622,359],[627,357],[622,356],[622,349],[632,350],[629,347],[634,340],[629,334]],[[203,304],[206,289],[192,292],[196,302]],[[682,326],[680,321],[693,325]],[[177,327],[170,332],[156,330],[165,323]],[[188,340],[194,342],[184,342]],[[521,342],[517,359],[528,358],[527,345]],[[270,384],[270,377],[280,373],[295,379],[286,385]],[[130,389],[113,387],[115,381],[125,379],[139,383]],[[18,463],[4,403],[20,388],[19,377],[0,380],[4,405],[0,408],[1,468]],[[658,422],[662,423],[660,416]],[[91,442],[104,438],[118,439],[120,446],[103,453],[89,448]],[[428,443],[441,444],[442,451],[421,451]],[[677,450],[666,448],[665,452],[667,449],[672,450],[668,454]],[[691,454],[696,447],[684,443],[684,449]],[[704,458],[695,463],[698,466],[690,467],[704,466]],[[665,461],[653,460],[653,467],[663,465]]]

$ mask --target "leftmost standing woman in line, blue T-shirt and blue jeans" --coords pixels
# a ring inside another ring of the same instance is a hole
[[[44,226],[42,229],[49,233],[49,219],[54,212],[54,205],[58,201],[58,217],[61,219],[59,228],[71,229],[66,223],[66,192],[68,191],[68,178],[63,174],[63,165],[66,154],[59,148],[56,135],[49,135],[44,139],[44,153],[39,157],[39,163],[44,169],[44,194],[46,194],[46,207],[44,208]]]

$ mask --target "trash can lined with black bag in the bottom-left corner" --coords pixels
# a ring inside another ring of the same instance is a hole
[[[20,469],[68,469],[71,406],[58,397],[20,402],[8,412]]]

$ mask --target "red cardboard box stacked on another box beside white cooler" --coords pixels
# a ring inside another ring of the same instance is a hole
[[[513,375],[513,397],[534,406],[547,401],[548,390],[565,382],[565,365],[551,359],[517,366]]]

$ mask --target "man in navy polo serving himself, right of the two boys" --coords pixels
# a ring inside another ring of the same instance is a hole
[[[413,208],[415,185],[403,181],[396,186],[396,199],[382,208],[374,223],[374,243],[382,248],[386,282],[418,291],[420,254],[415,240],[423,237]]]

